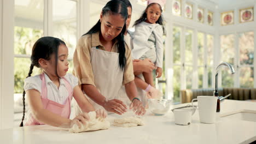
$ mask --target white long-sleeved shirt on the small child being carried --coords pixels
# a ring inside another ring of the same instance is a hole
[[[156,62],[155,66],[162,68],[162,61],[164,58],[164,46],[162,35],[164,31],[162,26],[158,23],[141,22],[135,26],[135,32],[132,34],[132,58],[139,59],[145,52],[149,50],[148,38],[155,34],[155,49],[156,49]]]

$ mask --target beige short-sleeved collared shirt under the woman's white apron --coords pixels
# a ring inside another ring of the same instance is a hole
[[[105,50],[100,42],[100,32],[83,35],[75,48],[73,63],[73,74],[78,77],[79,86],[82,84],[94,85],[94,73],[91,67],[91,48],[96,47]],[[114,43],[111,52],[118,52],[117,41]],[[134,80],[131,50],[125,44],[126,65],[124,68],[123,85]]]

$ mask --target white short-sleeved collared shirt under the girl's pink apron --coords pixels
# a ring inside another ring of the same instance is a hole
[[[48,75],[44,74],[44,77],[47,88],[47,98],[49,100],[55,101],[56,103],[64,104],[66,99],[68,98],[68,91],[65,86],[64,80],[60,79],[60,87],[58,89],[57,86],[53,83],[53,81],[50,80]],[[78,78],[68,73],[64,77],[71,85],[73,91],[74,87],[78,85]],[[40,79],[40,75],[27,77],[27,79],[25,79],[24,82],[24,89],[25,91],[29,89],[36,89],[39,93],[41,93],[42,80]]]

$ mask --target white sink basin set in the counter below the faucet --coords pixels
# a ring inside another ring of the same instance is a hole
[[[219,117],[237,119],[237,120],[242,120],[242,121],[256,122],[256,111],[254,111],[254,110],[238,110],[238,111],[232,111],[232,112],[228,112],[228,113],[222,113],[219,115]]]

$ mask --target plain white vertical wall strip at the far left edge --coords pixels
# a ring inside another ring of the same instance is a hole
[[[0,129],[13,127],[14,0],[0,1]]]

